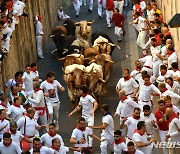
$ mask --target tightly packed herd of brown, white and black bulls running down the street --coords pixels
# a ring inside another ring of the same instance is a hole
[[[111,54],[115,47],[120,49],[107,34],[92,33],[93,22],[74,23],[68,19],[50,36],[57,47],[58,59],[64,63],[64,80],[73,104],[78,103],[83,85],[96,99],[105,92],[114,63]]]

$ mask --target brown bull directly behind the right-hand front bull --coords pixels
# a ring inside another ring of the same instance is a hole
[[[103,71],[103,79],[109,80],[111,69],[114,63],[111,56],[108,54],[99,54],[91,62],[95,62],[96,64],[101,65]]]

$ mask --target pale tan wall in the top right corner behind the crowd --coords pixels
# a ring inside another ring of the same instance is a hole
[[[166,23],[176,14],[180,13],[180,0],[156,0],[159,8],[162,10],[163,18]],[[175,49],[178,53],[180,61],[180,28],[171,28],[170,29],[174,43]]]

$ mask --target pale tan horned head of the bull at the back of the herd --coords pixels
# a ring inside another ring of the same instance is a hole
[[[92,25],[93,22],[80,21],[75,23],[76,25],[76,35],[80,39],[88,40],[92,33]]]

